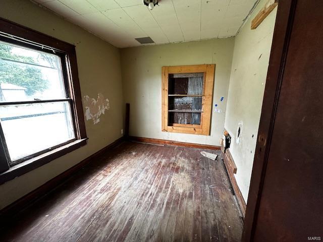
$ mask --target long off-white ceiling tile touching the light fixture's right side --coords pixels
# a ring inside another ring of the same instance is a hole
[[[172,1],[163,2],[150,12],[170,42],[184,41]]]

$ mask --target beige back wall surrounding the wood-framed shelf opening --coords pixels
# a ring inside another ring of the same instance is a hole
[[[130,135],[219,145],[223,134],[234,38],[121,49],[124,101],[130,103]],[[161,132],[161,67],[216,64],[211,135]],[[221,97],[225,97],[221,102]],[[224,112],[214,112],[214,104]]]

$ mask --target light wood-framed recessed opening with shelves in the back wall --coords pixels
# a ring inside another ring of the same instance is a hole
[[[215,65],[162,68],[162,130],[209,135]]]

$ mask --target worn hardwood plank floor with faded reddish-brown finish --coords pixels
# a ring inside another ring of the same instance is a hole
[[[0,241],[240,241],[220,151],[126,142],[0,231]]]

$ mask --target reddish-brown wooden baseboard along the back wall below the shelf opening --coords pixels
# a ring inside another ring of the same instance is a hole
[[[190,148],[197,148],[197,149],[220,150],[220,146],[202,145],[202,144],[186,143],[186,142],[179,142],[179,141],[172,141],[172,140],[142,138],[142,137],[135,137],[135,136],[130,136],[129,140],[142,142],[142,143],[157,144],[157,145],[175,145],[175,146],[183,146],[183,147],[190,147]]]

